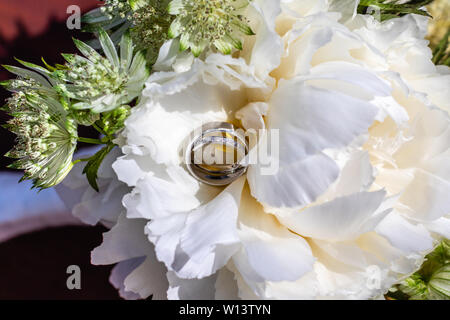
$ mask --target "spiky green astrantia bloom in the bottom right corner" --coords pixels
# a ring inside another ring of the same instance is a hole
[[[450,240],[426,256],[421,269],[391,289],[388,297],[409,300],[450,300]]]

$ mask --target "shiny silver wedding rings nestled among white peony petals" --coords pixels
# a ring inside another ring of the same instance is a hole
[[[197,180],[212,186],[225,186],[247,171],[245,136],[228,122],[204,124],[193,134],[186,149],[186,166]]]

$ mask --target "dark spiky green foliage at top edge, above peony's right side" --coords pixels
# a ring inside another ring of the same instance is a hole
[[[433,2],[433,0],[411,0],[406,3],[401,2],[404,1],[360,0],[358,13],[373,15],[379,13],[381,21],[402,17],[411,13],[430,16],[428,12],[422,8]]]

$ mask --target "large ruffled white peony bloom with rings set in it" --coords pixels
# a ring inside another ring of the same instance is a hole
[[[426,18],[326,0],[248,12],[256,35],[236,55],[161,48],[112,165],[126,212],[92,262],[119,262],[130,299],[378,298],[450,237],[450,79]],[[279,129],[278,172],[252,164],[224,188],[190,176],[180,147],[213,121]]]

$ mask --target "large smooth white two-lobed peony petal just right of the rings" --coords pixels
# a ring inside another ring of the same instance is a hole
[[[295,79],[281,81],[269,104],[267,127],[279,129],[279,157],[274,149],[270,158],[279,159],[280,168],[264,175],[258,163],[248,173],[252,195],[269,207],[297,208],[314,201],[338,174],[334,161],[319,152],[348,145],[367,131],[377,113],[367,102]]]

